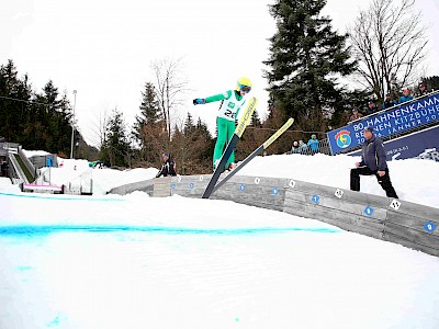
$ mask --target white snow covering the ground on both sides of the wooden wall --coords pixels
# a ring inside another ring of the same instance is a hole
[[[348,189],[356,161],[258,157],[239,174]],[[438,162],[389,167],[401,200],[439,207]],[[91,196],[0,180],[0,328],[439,328],[436,257],[230,201],[106,194],[155,168],[64,160],[50,183],[88,171]]]

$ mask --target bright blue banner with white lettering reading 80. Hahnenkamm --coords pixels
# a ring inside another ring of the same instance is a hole
[[[379,112],[348,126],[327,133],[333,155],[347,151],[364,143],[363,129],[374,128],[380,138],[401,134],[432,122],[439,122],[439,94]]]

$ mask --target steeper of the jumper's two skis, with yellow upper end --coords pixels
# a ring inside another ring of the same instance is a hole
[[[245,107],[244,113],[238,121],[238,125],[235,128],[235,133],[232,136],[230,140],[228,141],[226,149],[224,150],[223,156],[221,157],[219,163],[216,166],[215,171],[212,175],[212,179],[209,182],[207,188],[205,189],[205,191],[203,193],[202,198],[209,198],[209,196],[211,196],[213,189],[215,188],[215,184],[218,181],[221,173],[224,171],[224,168],[227,163],[228,158],[230,157],[232,152],[234,151],[236,145],[238,144],[238,140],[243,136],[244,131],[246,129],[248,123],[250,122],[251,115],[255,112],[257,103],[258,103],[258,100],[256,98],[251,98],[250,101],[248,102],[247,106]]]

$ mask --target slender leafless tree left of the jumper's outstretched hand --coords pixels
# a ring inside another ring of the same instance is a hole
[[[181,59],[156,60],[151,64],[156,78],[156,94],[166,122],[168,140],[171,139],[172,114],[183,104],[188,81],[181,75]]]

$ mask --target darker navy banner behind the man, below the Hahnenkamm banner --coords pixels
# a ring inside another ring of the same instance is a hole
[[[419,158],[439,162],[439,126],[387,140],[384,149],[387,161]],[[361,156],[361,150],[349,155]]]

